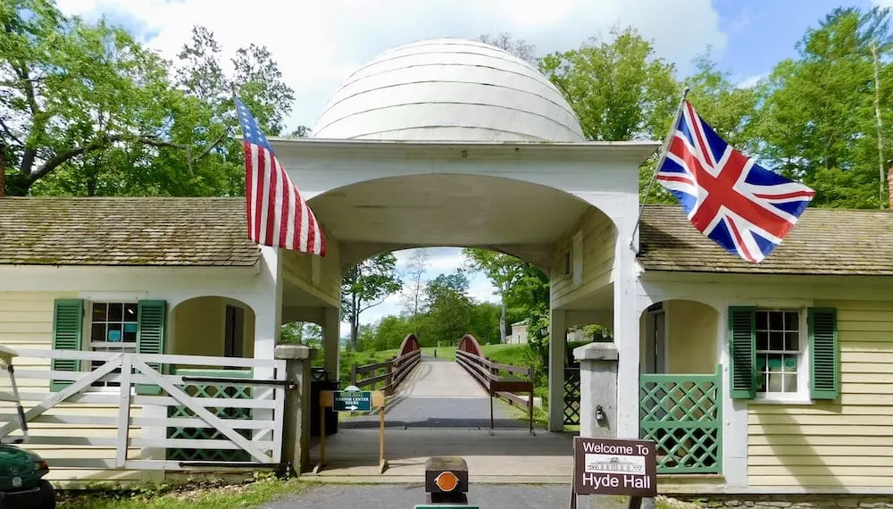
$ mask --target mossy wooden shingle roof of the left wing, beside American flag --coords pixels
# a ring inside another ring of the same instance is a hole
[[[0,198],[0,264],[251,266],[245,198]]]

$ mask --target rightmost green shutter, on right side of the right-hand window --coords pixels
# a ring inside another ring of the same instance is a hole
[[[810,396],[837,399],[840,394],[840,359],[837,310],[809,308]]]

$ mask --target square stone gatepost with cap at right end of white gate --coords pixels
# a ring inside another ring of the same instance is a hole
[[[276,358],[286,361],[287,380],[295,384],[285,393],[282,462],[291,463],[297,475],[310,463],[310,366],[315,356],[310,346],[276,346]]]

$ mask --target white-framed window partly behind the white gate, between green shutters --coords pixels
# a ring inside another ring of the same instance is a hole
[[[138,305],[133,302],[88,302],[87,313],[88,349],[94,352],[128,352],[137,351]],[[104,361],[91,361],[91,369],[95,370]],[[114,373],[121,373],[115,370]],[[95,388],[119,387],[116,381],[98,380],[92,384]]]

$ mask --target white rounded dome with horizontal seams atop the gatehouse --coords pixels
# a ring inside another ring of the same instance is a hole
[[[430,39],[385,51],[347,79],[313,138],[584,141],[549,80],[495,46]]]

